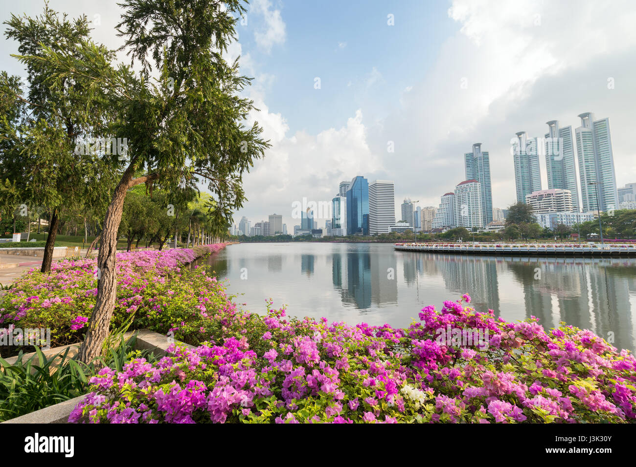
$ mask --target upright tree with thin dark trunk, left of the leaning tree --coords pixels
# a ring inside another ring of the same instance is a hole
[[[14,57],[27,68],[28,92],[23,95],[21,88],[11,90],[10,98],[24,104],[21,109],[24,116],[20,125],[6,128],[14,148],[11,154],[19,157],[7,163],[3,156],[3,165],[13,167],[13,189],[22,205],[30,212],[36,205],[50,210],[41,266],[46,273],[50,272],[62,211],[78,200],[103,201],[111,187],[113,180],[109,177],[113,171],[104,170],[100,160],[103,154],[75,151],[82,135],[102,131],[107,106],[103,105],[101,90],[94,88],[83,74],[57,76],[53,81],[55,65],[45,59],[55,53],[67,60],[81,60],[80,48],[90,33],[85,16],[71,21],[63,15],[60,20],[46,4],[40,17],[11,15],[6,24],[9,27],[5,36],[18,41],[20,55]],[[3,85],[3,90],[8,88]],[[84,100],[84,95],[92,96],[92,105],[81,107],[79,101]]]

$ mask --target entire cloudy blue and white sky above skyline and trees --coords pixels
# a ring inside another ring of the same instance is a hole
[[[115,1],[50,0],[93,20],[93,38],[120,45]],[[43,1],[0,6],[36,15]],[[404,198],[438,206],[465,179],[464,153],[490,153],[493,206],[516,201],[511,139],[543,137],[547,121],[580,126],[578,114],[609,118],[618,186],[636,182],[636,2],[453,0],[310,2],[252,0],[237,24],[245,90],[272,147],[244,175],[248,201],[235,214],[254,223],[294,203],[330,201],[363,175],[394,180],[396,220]],[[0,67],[24,74],[4,39]],[[123,56],[121,57],[123,59]],[[392,149],[392,151],[391,151]],[[545,161],[541,158],[544,188]],[[324,219],[318,219],[324,226]]]

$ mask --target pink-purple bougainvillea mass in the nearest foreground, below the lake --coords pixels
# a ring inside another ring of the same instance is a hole
[[[205,277],[195,271],[194,287],[208,287]],[[636,420],[631,353],[588,330],[562,323],[546,332],[534,317],[508,323],[469,302],[464,295],[440,311],[427,306],[419,322],[401,329],[287,320],[271,301],[267,315],[259,316],[237,311],[223,295],[214,309],[205,302],[182,311],[177,331],[196,348],[173,346],[154,364],[137,358],[120,372],[104,368],[69,422]],[[488,340],[449,345],[439,339],[444,329]]]

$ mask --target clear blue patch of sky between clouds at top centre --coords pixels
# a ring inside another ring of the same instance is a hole
[[[384,1],[273,3],[280,7],[287,40],[262,53],[247,26],[239,25],[240,42],[259,72],[276,78],[268,88],[272,112],[286,116],[289,130],[318,133],[342,126],[361,106],[378,114],[395,107],[406,86],[429,69],[443,37],[457,30],[448,18],[448,3]],[[397,27],[389,27],[387,15]],[[440,20],[441,19],[441,20]],[[258,28],[261,18],[254,18]],[[410,44],[410,47],[404,47]],[[377,71],[372,95],[361,83]],[[321,89],[314,89],[314,78]]]

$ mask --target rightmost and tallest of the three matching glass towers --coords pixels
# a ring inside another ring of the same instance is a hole
[[[576,129],[576,151],[583,212],[616,208],[618,193],[609,118],[595,121],[591,112],[580,114],[579,118],[581,126]]]

